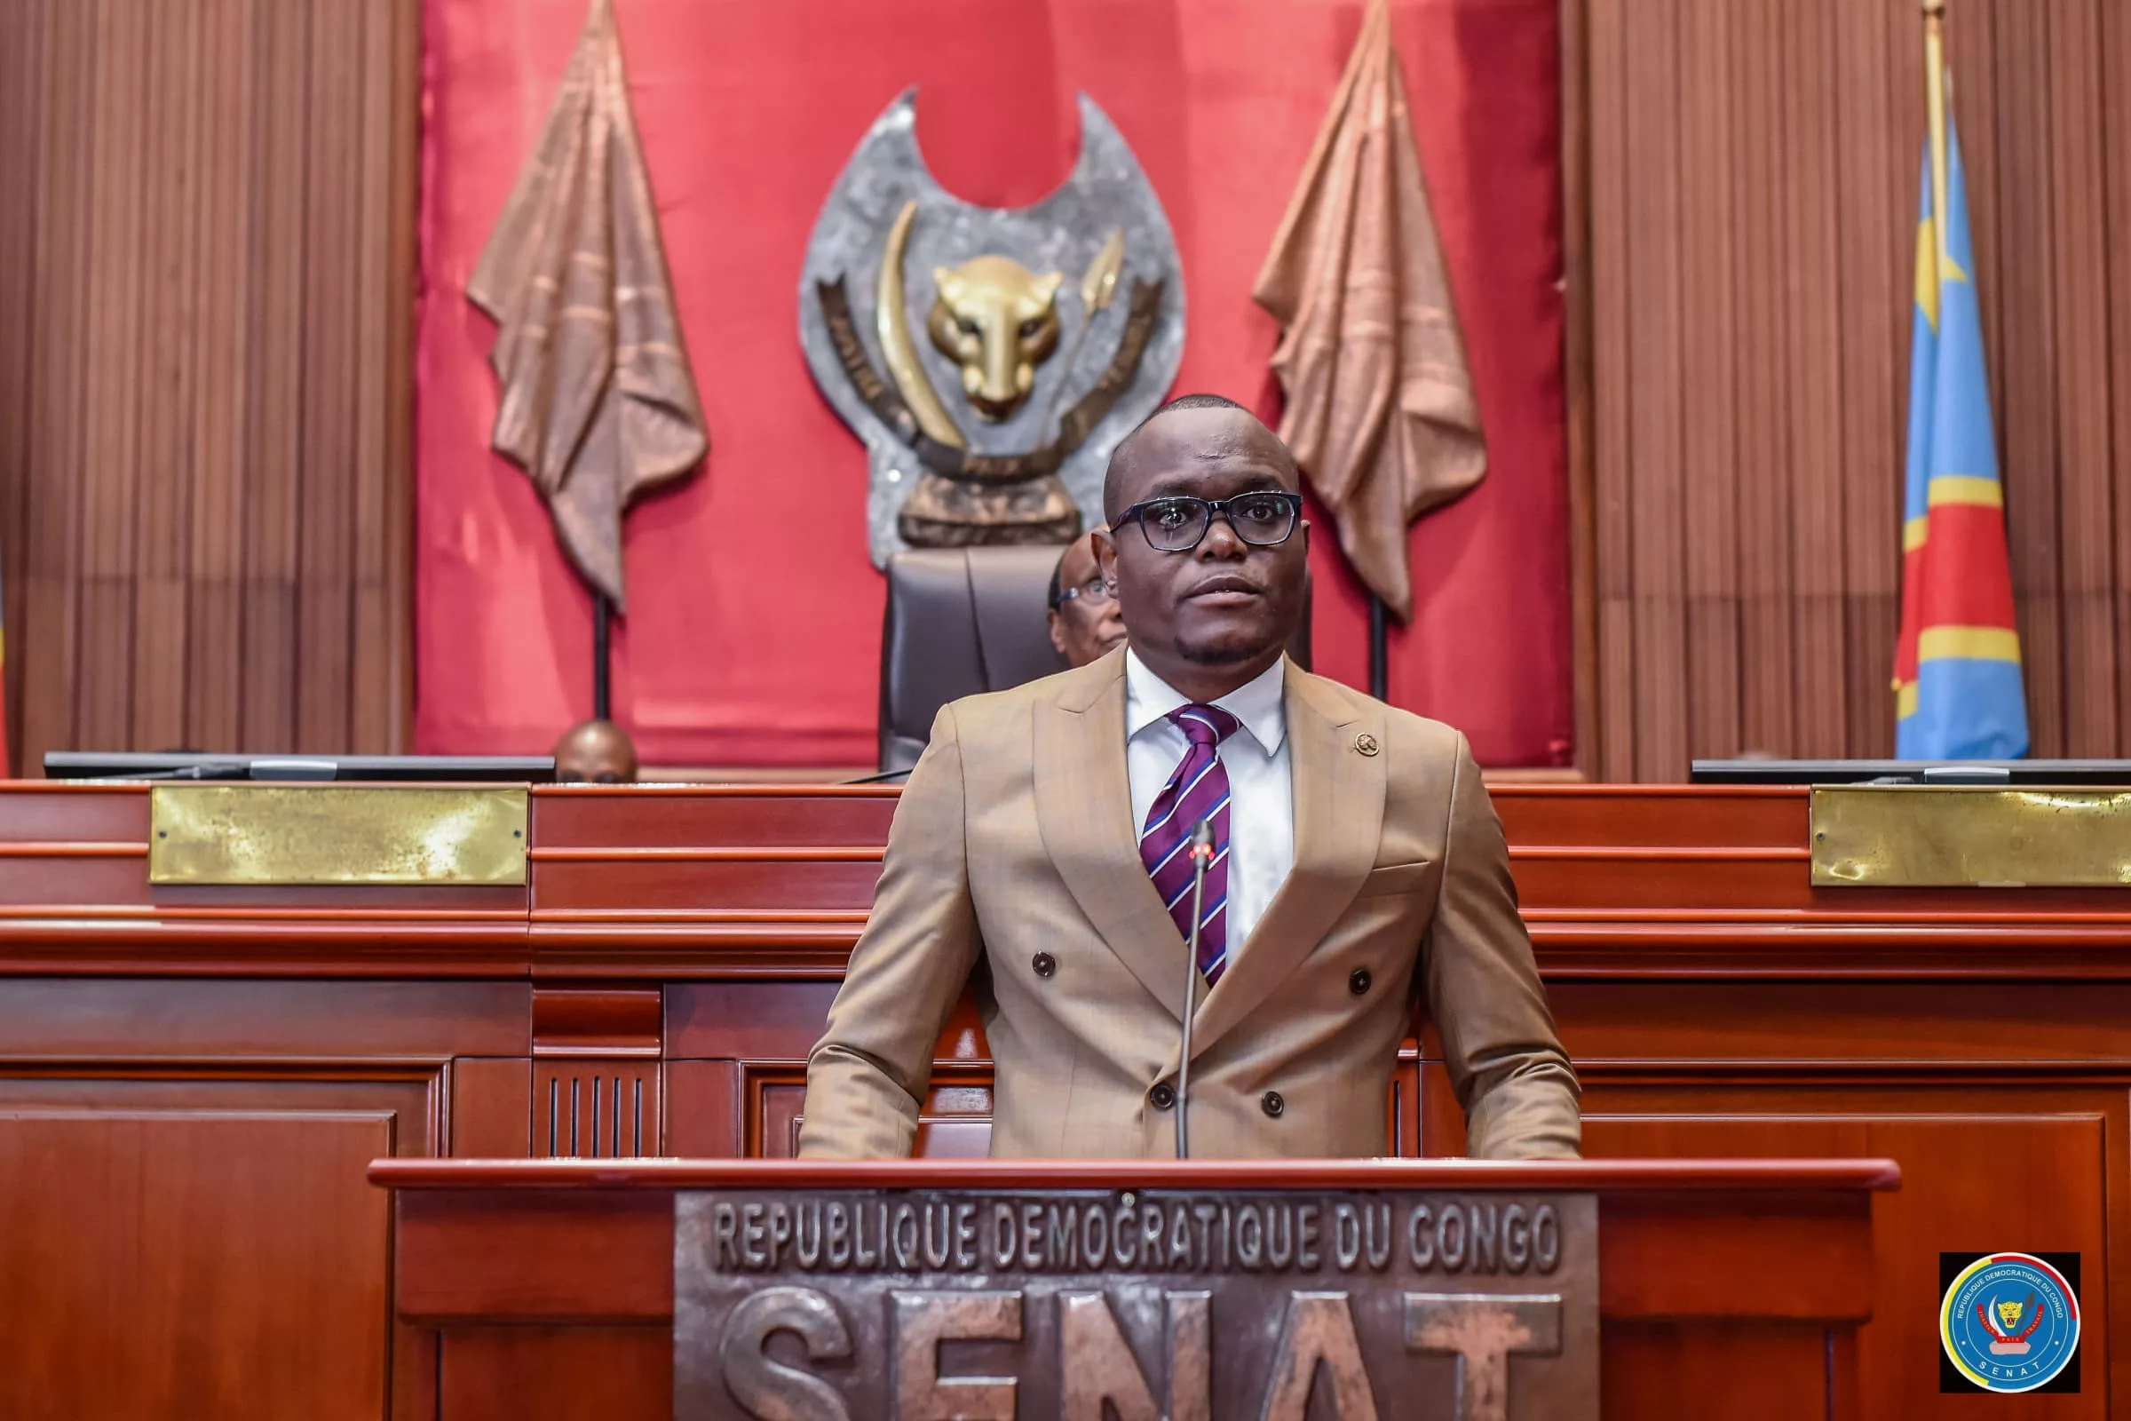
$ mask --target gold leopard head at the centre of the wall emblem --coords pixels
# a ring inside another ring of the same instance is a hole
[[[961,390],[978,415],[997,424],[1036,388],[1036,366],[1059,345],[1057,292],[1063,277],[1038,277],[1010,256],[980,256],[936,266],[940,288],[925,330],[961,366]]]

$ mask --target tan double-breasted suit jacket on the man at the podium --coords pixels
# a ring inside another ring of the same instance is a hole
[[[1112,652],[940,712],[808,1061],[801,1155],[910,1153],[972,976],[993,1155],[1174,1155],[1157,1087],[1176,1082],[1185,944],[1140,865],[1123,669]],[[1464,737],[1285,677],[1296,863],[1221,980],[1198,982],[1191,1153],[1389,1153],[1392,1069],[1421,1008],[1473,1157],[1575,1155],[1577,1078]]]

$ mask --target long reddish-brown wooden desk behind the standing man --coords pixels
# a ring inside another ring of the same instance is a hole
[[[2052,1415],[2110,1415],[2131,897],[1816,891],[1803,790],[1494,799],[1588,1153],[1897,1159],[1869,1415],[1937,1406],[1939,1251],[1980,1248],[2082,1255],[2084,1385]],[[893,807],[554,788],[524,888],[151,891],[143,786],[0,786],[0,1327],[26,1359],[0,1415],[168,1415],[266,1376],[226,1415],[428,1417],[367,1161],[788,1153]],[[1404,1155],[1462,1148],[1436,1057],[1424,1033],[1389,1101]],[[927,1148],[982,1153],[972,1014],[933,1084]]]

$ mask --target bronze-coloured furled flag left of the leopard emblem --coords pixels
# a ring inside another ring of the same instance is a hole
[[[497,322],[492,443],[533,477],[563,550],[620,609],[622,511],[695,467],[710,439],[609,0],[592,0],[467,296]]]

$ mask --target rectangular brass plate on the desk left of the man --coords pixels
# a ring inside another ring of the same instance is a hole
[[[522,786],[158,784],[151,884],[522,884]]]

